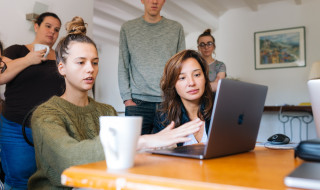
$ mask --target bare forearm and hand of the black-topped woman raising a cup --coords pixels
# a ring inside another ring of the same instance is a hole
[[[14,60],[3,57],[3,61],[7,64],[7,69],[1,74],[0,85],[10,82],[25,68],[46,60],[46,58],[43,58],[45,51],[46,50],[30,51],[25,57]]]

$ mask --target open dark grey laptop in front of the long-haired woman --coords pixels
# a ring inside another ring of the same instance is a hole
[[[267,90],[268,87],[263,85],[221,79],[213,104],[207,143],[149,152],[208,159],[253,150]]]

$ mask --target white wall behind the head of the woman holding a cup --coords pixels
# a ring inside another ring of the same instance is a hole
[[[44,6],[35,7],[36,2]],[[26,14],[37,12],[41,7],[47,7],[44,11],[54,12],[61,19],[59,38],[66,35],[64,24],[74,16],[81,16],[88,23],[87,35],[92,36],[93,0],[0,0],[0,39],[5,47],[33,41],[33,25],[26,20]],[[3,94],[3,91],[4,85],[0,88],[0,94]]]

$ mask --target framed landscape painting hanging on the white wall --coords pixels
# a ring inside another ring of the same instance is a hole
[[[306,66],[305,27],[254,33],[255,69]]]

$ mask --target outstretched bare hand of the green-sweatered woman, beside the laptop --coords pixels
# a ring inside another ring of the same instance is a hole
[[[157,147],[172,146],[177,143],[186,142],[191,140],[187,136],[200,130],[204,122],[199,118],[178,128],[174,128],[174,122],[171,122],[165,129],[159,133],[152,135],[142,135],[138,140],[137,149],[149,149]]]

